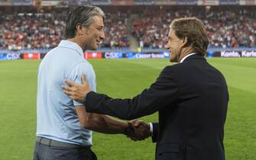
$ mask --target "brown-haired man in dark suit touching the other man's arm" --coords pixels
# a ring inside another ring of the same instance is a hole
[[[204,58],[209,44],[203,22],[180,18],[170,24],[170,62],[156,82],[132,99],[109,98],[83,85],[66,82],[70,98],[86,111],[132,120],[159,112],[153,123],[157,160],[224,160],[224,123],[228,88],[218,69]]]

